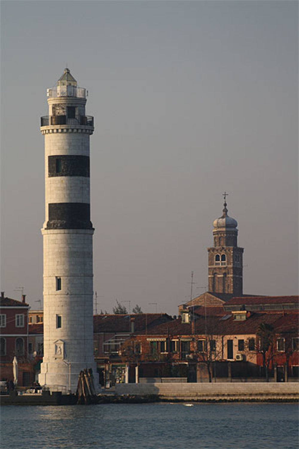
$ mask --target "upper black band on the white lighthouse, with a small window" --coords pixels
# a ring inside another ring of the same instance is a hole
[[[89,156],[48,156],[48,176],[89,177]]]

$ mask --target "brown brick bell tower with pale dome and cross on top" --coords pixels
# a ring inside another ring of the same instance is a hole
[[[243,295],[243,248],[238,247],[238,223],[228,216],[226,196],[222,216],[213,222],[214,246],[208,248],[208,291]]]

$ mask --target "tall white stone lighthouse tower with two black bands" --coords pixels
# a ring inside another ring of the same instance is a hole
[[[49,115],[41,117],[45,138],[43,224],[43,363],[39,383],[76,391],[78,374],[93,357],[93,272],[90,220],[87,91],[65,69],[47,90]],[[97,382],[95,382],[97,383]]]

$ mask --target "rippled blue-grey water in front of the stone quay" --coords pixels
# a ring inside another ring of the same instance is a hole
[[[297,449],[298,405],[9,405],[1,448]]]

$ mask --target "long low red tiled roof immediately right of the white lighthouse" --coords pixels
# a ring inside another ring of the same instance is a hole
[[[126,332],[130,333],[130,319],[134,318],[134,332],[145,330],[156,326],[172,318],[167,313],[136,313],[136,314],[115,314],[115,315],[95,315],[93,317],[94,332]]]

